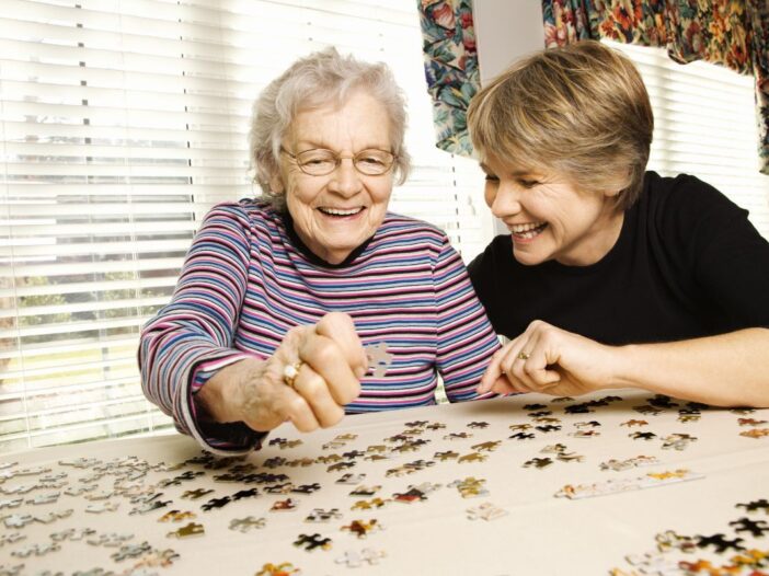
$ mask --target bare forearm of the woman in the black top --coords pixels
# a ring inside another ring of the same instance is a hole
[[[715,406],[769,406],[769,330],[616,348],[612,387]]]

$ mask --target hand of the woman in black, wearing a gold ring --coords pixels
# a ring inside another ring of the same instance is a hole
[[[478,392],[543,392],[572,396],[612,388],[618,361],[616,350],[535,320],[526,332],[492,357]]]

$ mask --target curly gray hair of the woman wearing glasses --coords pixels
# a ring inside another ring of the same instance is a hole
[[[297,114],[330,103],[343,104],[360,89],[378,100],[388,113],[391,152],[397,158],[395,182],[405,182],[411,168],[411,158],[403,145],[405,96],[392,71],[383,62],[364,62],[329,47],[295,61],[267,84],[254,102],[249,151],[254,182],[263,192],[262,199],[278,210],[286,208],[284,192],[271,189],[269,182],[279,172],[283,137]]]

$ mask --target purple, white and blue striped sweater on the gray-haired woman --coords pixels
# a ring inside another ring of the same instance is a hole
[[[176,428],[216,452],[259,447],[243,424],[198,421],[194,394],[219,369],[269,357],[286,332],[328,312],[348,313],[365,346],[384,349],[348,414],[435,403],[438,372],[449,401],[477,399],[498,348],[459,254],[437,228],[388,212],[340,265],[312,254],[290,217],[259,200],[215,207],[187,253],[175,292],[145,326],[145,394]],[[379,371],[381,372],[381,371]]]

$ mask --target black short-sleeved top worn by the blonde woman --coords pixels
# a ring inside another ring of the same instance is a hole
[[[647,172],[617,243],[596,264],[525,266],[500,235],[470,264],[470,278],[507,337],[532,320],[605,344],[769,327],[769,243],[747,214],[693,176]]]

